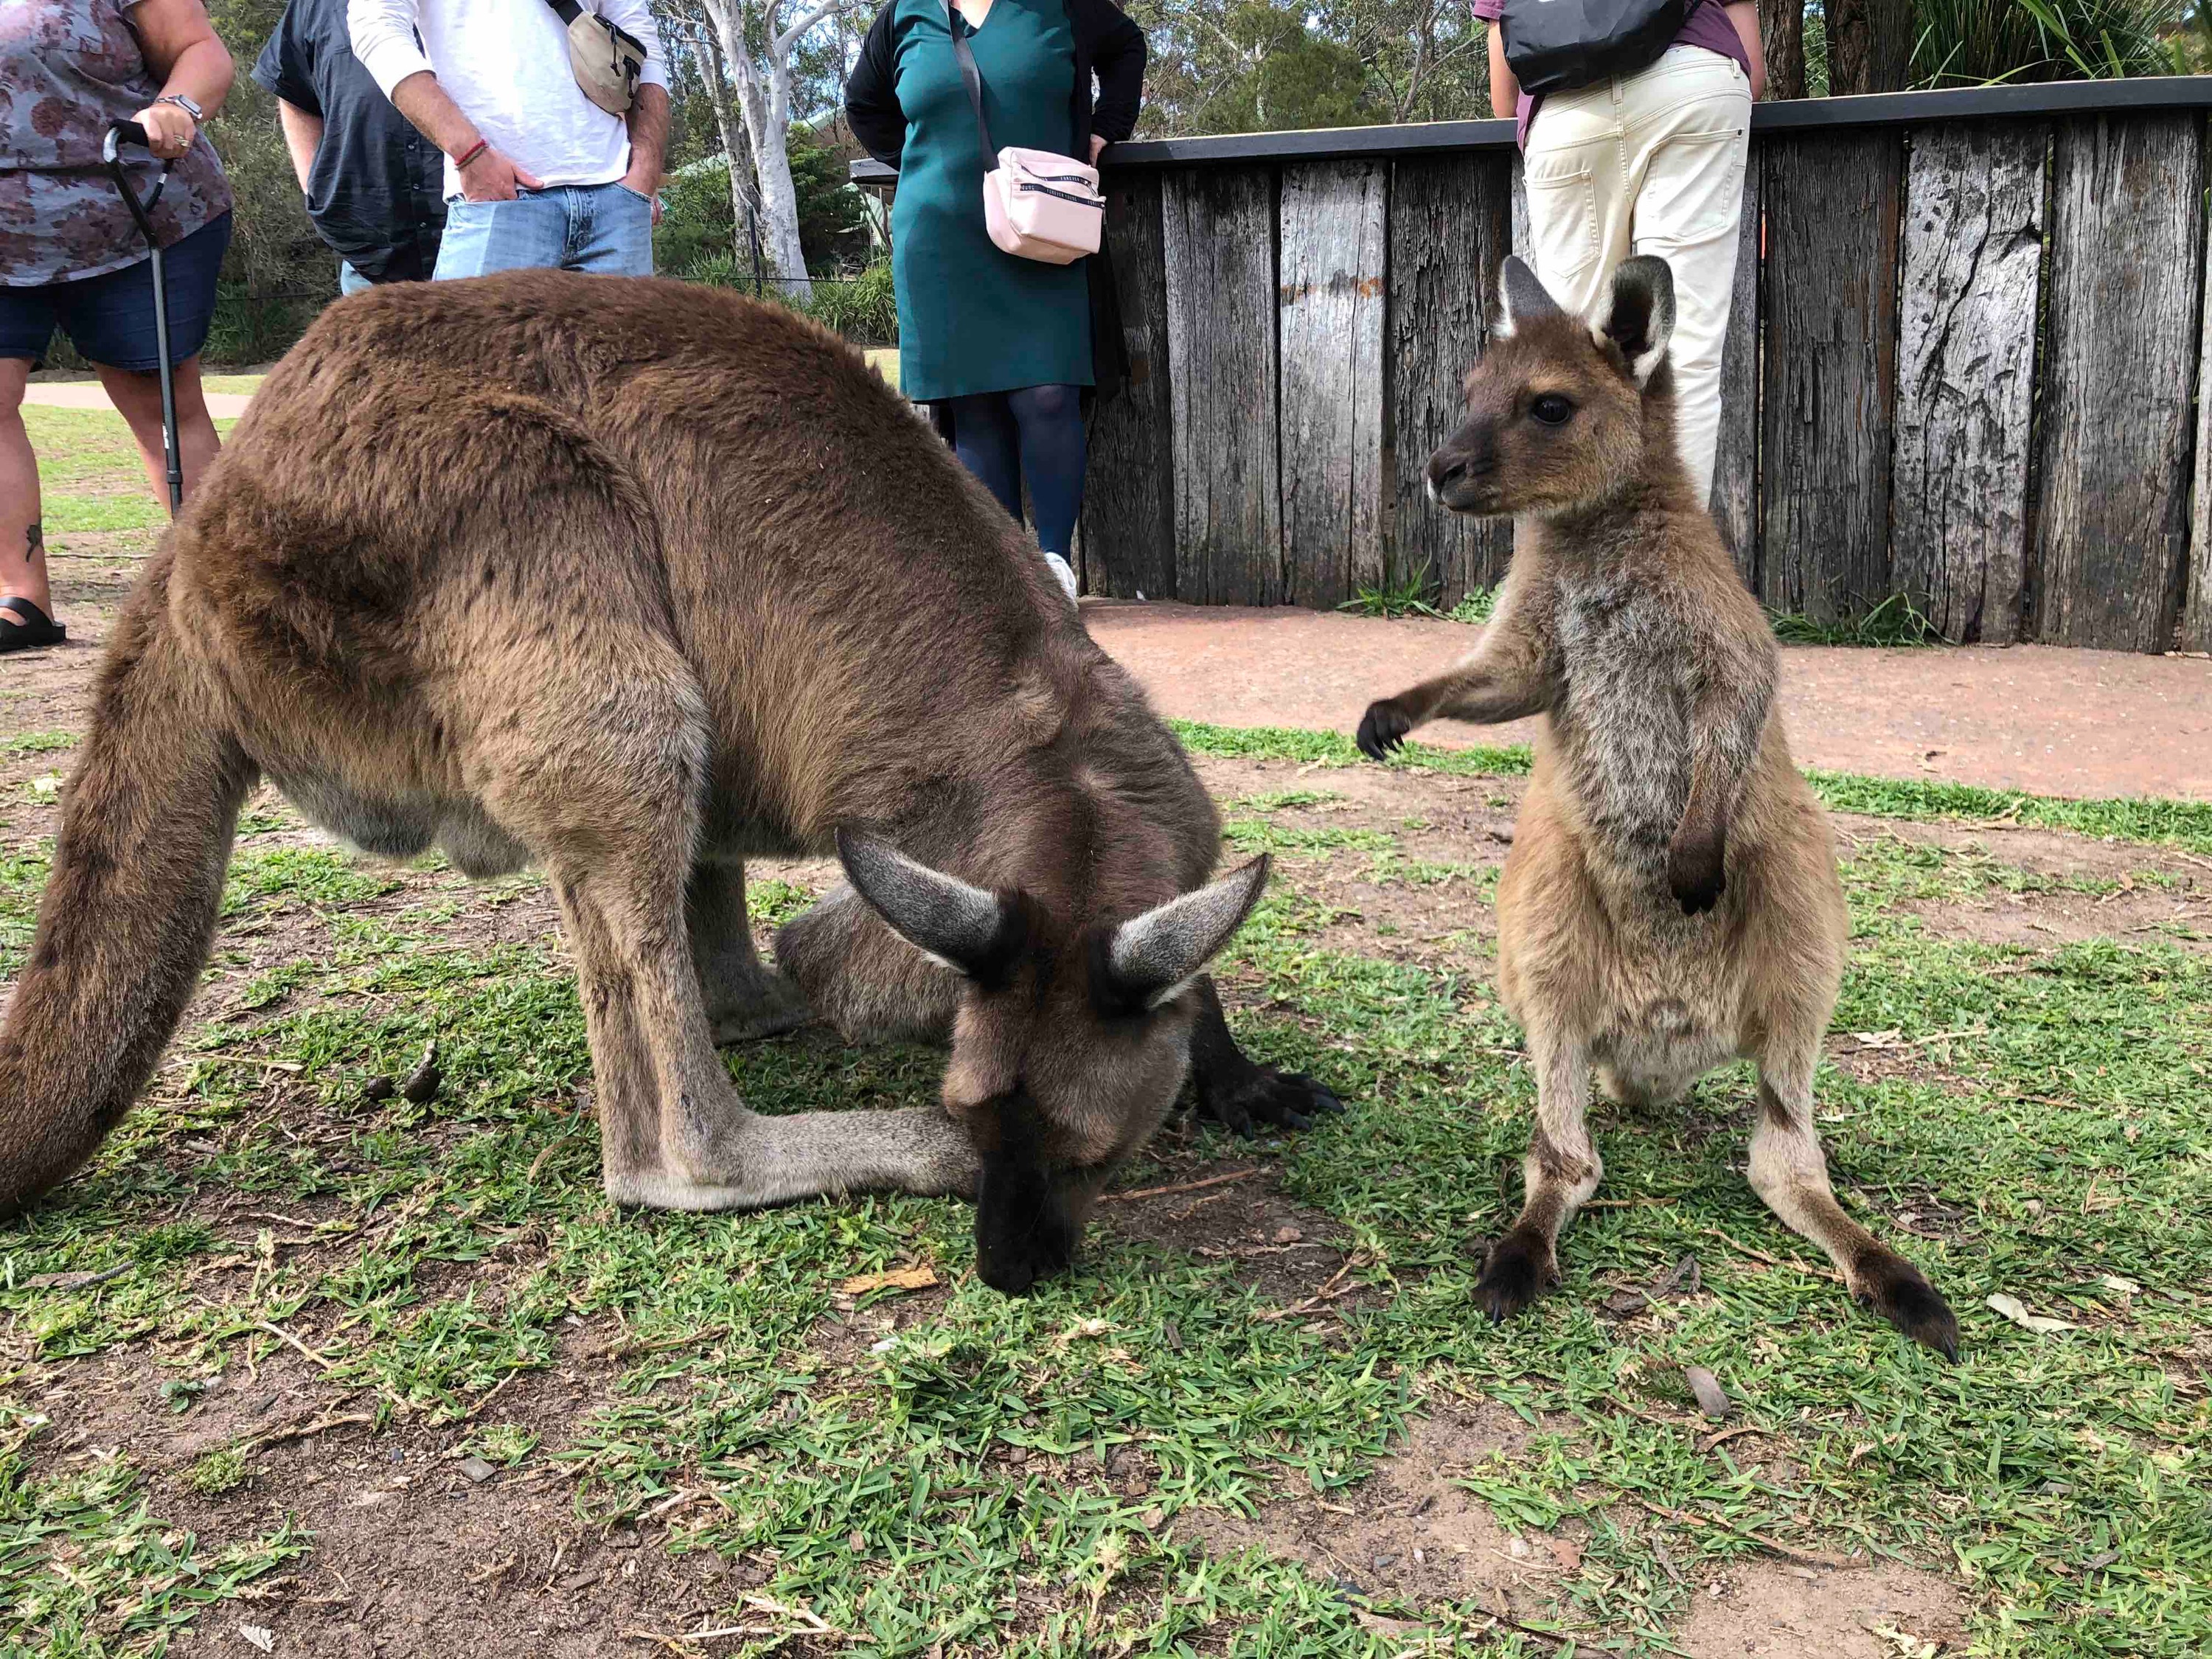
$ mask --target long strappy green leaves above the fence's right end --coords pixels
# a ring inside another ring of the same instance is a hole
[[[2190,0],[1913,0],[1916,86],[2185,73]]]

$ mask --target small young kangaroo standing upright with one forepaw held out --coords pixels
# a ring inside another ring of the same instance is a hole
[[[1672,276],[1626,261],[1597,323],[1517,259],[1504,290],[1504,336],[1467,376],[1429,495],[1513,513],[1513,566],[1475,650],[1358,732],[1380,759],[1440,717],[1544,719],[1498,883],[1498,982],[1537,1124],[1478,1296],[1504,1318],[1557,1283],[1559,1230],[1604,1170],[1593,1064],[1615,1099],[1666,1102],[1750,1057],[1759,1197],[1865,1307],[1958,1358],[1942,1296],[1827,1181],[1812,1079],[1843,982],[1836,843],[1774,710],[1774,635],[1674,445]]]

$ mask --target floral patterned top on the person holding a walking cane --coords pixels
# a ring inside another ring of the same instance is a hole
[[[100,159],[108,122],[161,93],[137,33],[137,0],[0,0],[0,288],[97,276],[146,259],[131,208]],[[128,148],[144,199],[161,164]],[[201,133],[153,212],[168,248],[230,212],[230,181]]]

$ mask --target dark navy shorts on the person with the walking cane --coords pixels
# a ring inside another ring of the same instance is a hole
[[[230,215],[219,215],[184,241],[161,250],[168,290],[168,361],[197,356],[215,316],[215,274],[230,246]],[[122,270],[38,288],[0,288],[0,356],[46,356],[62,330],[93,363],[153,374],[161,352],[153,334],[153,259]]]

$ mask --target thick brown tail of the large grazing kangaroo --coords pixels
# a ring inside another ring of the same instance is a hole
[[[215,938],[257,770],[166,613],[161,557],[100,668],[31,958],[0,1026],[0,1214],[75,1170],[124,1115]]]

